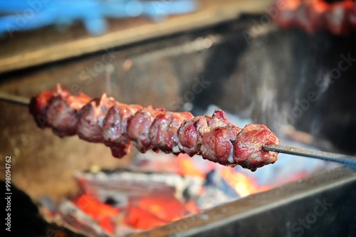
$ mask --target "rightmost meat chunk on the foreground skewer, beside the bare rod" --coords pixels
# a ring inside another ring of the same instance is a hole
[[[241,167],[255,171],[258,167],[273,164],[277,160],[277,152],[263,151],[263,147],[280,143],[265,125],[246,125],[233,144],[234,161]]]

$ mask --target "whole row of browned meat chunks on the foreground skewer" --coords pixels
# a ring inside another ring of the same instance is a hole
[[[29,110],[39,127],[51,127],[60,137],[77,133],[88,142],[104,143],[118,158],[133,143],[140,152],[201,154],[211,162],[239,164],[251,171],[277,159],[278,153],[263,151],[267,144],[279,144],[271,130],[265,125],[236,127],[222,110],[211,117],[194,117],[190,112],[121,104],[105,94],[89,100],[87,95],[70,95],[58,85],[32,98]]]

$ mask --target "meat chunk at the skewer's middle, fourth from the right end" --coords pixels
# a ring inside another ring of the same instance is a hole
[[[162,152],[172,152],[178,144],[178,129],[184,120],[194,117],[190,112],[164,112],[157,115],[150,127],[150,141],[152,146]]]

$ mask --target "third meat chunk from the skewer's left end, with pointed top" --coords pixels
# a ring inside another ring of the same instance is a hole
[[[85,105],[80,112],[78,136],[88,142],[104,142],[103,120],[115,100],[106,94]]]

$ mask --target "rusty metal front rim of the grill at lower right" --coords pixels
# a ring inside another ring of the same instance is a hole
[[[144,236],[355,236],[356,169],[337,168],[253,194]]]

